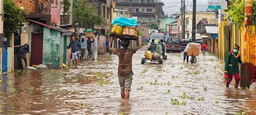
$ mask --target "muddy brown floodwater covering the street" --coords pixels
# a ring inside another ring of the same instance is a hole
[[[102,55],[78,69],[3,75],[0,113],[256,113],[256,90],[234,89],[234,81],[225,88],[224,63],[215,56],[200,55],[198,63],[192,65],[183,63],[183,53],[169,53],[163,65],[140,64],[143,49],[133,55],[129,102],[120,99],[117,56]],[[173,105],[171,99],[179,103]]]

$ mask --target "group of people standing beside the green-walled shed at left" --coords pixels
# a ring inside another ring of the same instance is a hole
[[[78,63],[80,61],[84,61],[84,55],[85,55],[85,51],[87,49],[88,51],[88,55],[87,55],[87,60],[91,59],[92,56],[92,43],[95,42],[95,40],[93,38],[87,38],[87,41],[85,42],[85,38],[81,38],[79,40],[79,38],[75,38],[72,37],[72,40],[69,44],[69,46],[67,46],[68,49],[71,48],[71,57],[70,60],[72,60],[73,62],[73,66],[78,66]]]

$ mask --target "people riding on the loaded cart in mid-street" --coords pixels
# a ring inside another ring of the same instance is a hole
[[[148,39],[147,42],[150,42],[150,39]],[[161,55],[163,56],[163,58],[165,56],[165,47],[166,46],[163,39],[160,39],[157,44],[154,39],[152,39],[150,47],[147,48],[147,51],[151,51],[153,53],[152,58],[160,59]]]

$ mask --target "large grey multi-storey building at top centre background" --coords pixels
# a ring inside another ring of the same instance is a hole
[[[137,17],[139,23],[150,26],[151,23],[158,24],[158,18],[164,17],[162,6],[156,0],[132,1],[132,10],[130,10],[130,0],[114,0],[116,9],[129,10],[132,17]],[[113,5],[114,6],[114,5]]]

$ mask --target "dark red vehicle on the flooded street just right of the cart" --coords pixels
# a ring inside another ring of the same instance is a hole
[[[171,37],[166,41],[166,52],[181,52],[181,40],[180,38]]]

